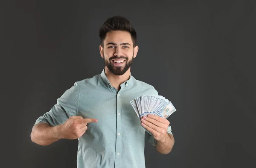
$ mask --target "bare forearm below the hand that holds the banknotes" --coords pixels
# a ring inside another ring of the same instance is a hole
[[[157,141],[156,149],[160,154],[169,154],[174,145],[174,138],[171,134],[167,133],[166,138],[162,141]]]

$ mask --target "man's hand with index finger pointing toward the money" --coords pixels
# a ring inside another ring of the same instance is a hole
[[[78,139],[87,130],[87,123],[98,122],[97,119],[83,119],[81,116],[71,116],[60,125],[60,137],[63,139]]]

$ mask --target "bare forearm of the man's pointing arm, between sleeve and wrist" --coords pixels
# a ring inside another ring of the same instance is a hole
[[[50,126],[46,123],[38,123],[34,125],[31,132],[31,140],[39,145],[50,145],[51,143],[60,139],[58,126]]]

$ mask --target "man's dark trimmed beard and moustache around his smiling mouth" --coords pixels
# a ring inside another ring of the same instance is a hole
[[[118,56],[113,56],[111,58],[109,58],[108,60],[105,59],[105,56],[104,56],[104,63],[105,63],[105,66],[108,67],[108,70],[113,73],[114,75],[123,75],[130,67],[131,67],[131,64],[132,64],[132,61],[133,61],[133,56],[132,55],[132,58],[131,60],[128,61],[128,58],[127,57],[118,57]],[[125,59],[125,66],[123,67],[114,67],[113,64],[111,63],[111,60],[112,59]]]

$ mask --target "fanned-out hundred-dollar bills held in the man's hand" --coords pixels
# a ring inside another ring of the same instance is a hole
[[[131,100],[130,103],[139,119],[148,114],[157,115],[166,119],[176,111],[171,101],[159,95],[139,96]],[[148,131],[148,133],[150,132]]]

